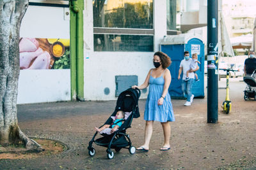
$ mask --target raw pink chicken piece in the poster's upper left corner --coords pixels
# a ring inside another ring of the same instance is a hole
[[[35,38],[22,38],[19,43],[20,52],[35,52],[39,43]]]

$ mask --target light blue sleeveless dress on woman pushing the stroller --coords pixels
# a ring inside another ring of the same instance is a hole
[[[152,71],[151,71],[152,72]],[[157,101],[163,94],[164,78],[154,78],[150,73],[148,97],[145,106],[144,120],[154,120],[158,122],[174,122],[173,108],[170,94],[164,97],[163,105],[158,105]]]

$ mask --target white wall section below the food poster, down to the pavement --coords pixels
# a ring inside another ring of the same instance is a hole
[[[17,104],[69,100],[70,69],[20,71]]]

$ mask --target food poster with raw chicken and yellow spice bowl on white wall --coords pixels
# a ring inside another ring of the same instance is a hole
[[[20,69],[70,69],[70,40],[20,38]]]

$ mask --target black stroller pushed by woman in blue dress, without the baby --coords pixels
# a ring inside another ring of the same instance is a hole
[[[95,139],[95,136],[97,136],[98,133],[95,132],[88,146],[88,153],[90,156],[93,157],[95,155],[95,148],[92,147],[93,142],[96,145],[108,148],[106,150],[108,154],[108,159],[113,159],[114,157],[114,152],[111,151],[111,148],[114,148],[116,152],[119,152],[122,148],[127,148],[129,149],[129,152],[131,154],[135,153],[136,148],[132,146],[131,139],[129,138],[129,135],[126,134],[126,129],[131,127],[133,118],[140,117],[140,112],[138,108],[138,100],[140,98],[140,94],[141,92],[139,89],[129,88],[118,96],[115,111],[108,118],[105,124],[110,125],[111,123],[113,123],[113,119],[111,117],[115,116],[116,112],[119,110],[122,110],[124,112],[130,112],[130,115],[119,127],[118,131],[115,131],[112,134],[102,134],[102,138]]]

